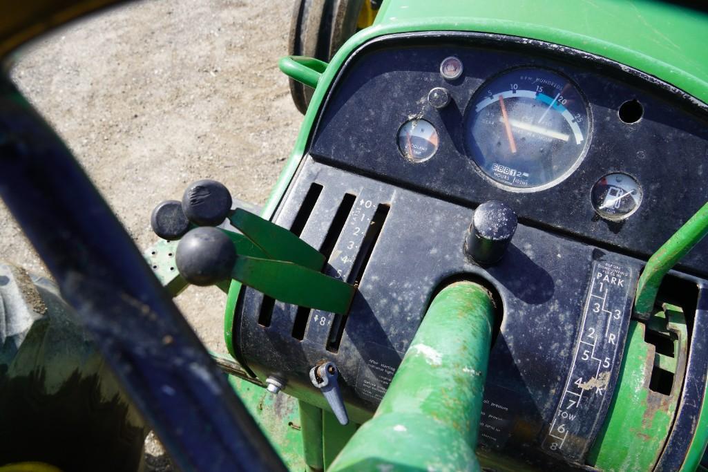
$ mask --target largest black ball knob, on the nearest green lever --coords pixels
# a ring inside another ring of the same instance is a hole
[[[197,227],[177,245],[177,270],[185,281],[207,286],[230,279],[236,264],[234,243],[215,227]]]

